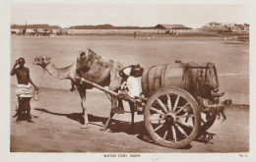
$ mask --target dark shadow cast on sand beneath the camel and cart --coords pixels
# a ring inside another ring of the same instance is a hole
[[[34,110],[52,114],[52,115],[57,115],[57,116],[64,116],[71,120],[77,121],[80,124],[84,124],[84,122],[85,122],[82,113],[62,114],[62,113],[50,112],[47,109],[43,109],[43,108],[34,108]],[[38,118],[38,117],[35,116],[35,118]],[[103,127],[104,123],[107,120],[107,118],[105,118],[105,117],[97,117],[97,116],[94,116],[91,114],[88,114],[88,118],[89,118],[91,125],[96,125],[99,127]],[[102,125],[96,124],[95,122],[101,122]],[[125,122],[125,121],[112,119],[109,131],[110,131],[110,133],[126,133],[128,135],[137,135],[137,137],[141,140],[150,142],[152,144],[159,145],[148,135],[148,132],[145,128],[144,121],[135,122],[134,127],[131,127],[131,122]],[[204,133],[201,133],[200,135],[198,135],[198,137],[194,141],[202,142],[205,144],[213,143],[213,142],[211,142],[211,139],[213,139],[214,135],[215,134],[204,132]],[[179,149],[189,149],[191,147],[192,146],[190,144],[188,144]]]

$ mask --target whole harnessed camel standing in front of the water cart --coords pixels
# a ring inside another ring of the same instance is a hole
[[[122,77],[119,76],[119,71],[123,68],[122,64],[104,58],[97,55],[94,51],[88,48],[85,51],[80,52],[80,56],[77,57],[77,61],[72,65],[65,68],[56,68],[51,63],[51,58],[47,56],[35,57],[34,65],[40,66],[42,69],[46,70],[51,76],[60,80],[71,80],[77,87],[81,97],[81,106],[83,109],[84,124],[83,129],[88,128],[88,112],[86,105],[86,92],[87,89],[93,88],[91,84],[83,83],[78,81],[78,78],[84,78],[88,81],[93,81],[101,86],[108,86],[110,90],[117,91],[121,86]],[[111,111],[109,118],[104,124],[101,131],[105,131],[109,128],[110,121],[113,115],[116,113],[117,108],[117,97],[111,96]],[[123,109],[123,104],[121,100],[118,100],[120,104],[118,107]],[[131,113],[132,113],[132,124],[131,128],[134,126],[134,104],[129,102]]]

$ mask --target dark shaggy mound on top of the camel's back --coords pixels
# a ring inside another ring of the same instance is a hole
[[[90,48],[81,51],[77,58],[77,71],[88,72],[93,65],[96,53]]]

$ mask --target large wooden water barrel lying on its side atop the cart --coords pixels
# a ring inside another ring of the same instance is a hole
[[[150,67],[142,76],[142,91],[146,96],[161,87],[181,87],[193,96],[210,95],[206,84],[218,87],[217,71],[213,63],[175,63]]]

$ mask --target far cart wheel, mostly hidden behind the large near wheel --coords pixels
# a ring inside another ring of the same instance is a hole
[[[201,112],[201,129],[200,131],[203,133],[210,129],[213,124],[215,123],[217,117],[217,112],[216,110],[213,110],[209,113],[202,113]]]

